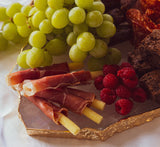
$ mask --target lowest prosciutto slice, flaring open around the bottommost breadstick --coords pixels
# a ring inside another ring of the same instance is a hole
[[[32,96],[25,96],[28,100],[34,103],[47,117],[53,120],[56,124],[59,124],[61,113],[67,115],[68,110],[66,108],[60,108],[53,103],[48,102],[45,99]]]

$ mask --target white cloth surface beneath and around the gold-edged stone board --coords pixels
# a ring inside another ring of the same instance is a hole
[[[16,1],[16,0],[15,0]],[[0,5],[8,5],[11,0],[0,0]],[[29,3],[28,0],[19,0]],[[159,147],[160,118],[147,124],[116,134],[102,141],[30,137],[18,118],[18,98],[7,86],[5,77],[14,66],[20,46],[10,46],[0,52],[0,147]]]

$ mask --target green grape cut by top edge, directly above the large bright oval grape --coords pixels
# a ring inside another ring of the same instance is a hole
[[[48,6],[53,9],[63,8],[64,0],[48,0]]]

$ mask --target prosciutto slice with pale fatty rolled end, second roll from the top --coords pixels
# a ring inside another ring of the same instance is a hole
[[[71,85],[83,84],[92,80],[89,71],[78,71],[73,73],[47,76],[37,80],[27,80],[22,83],[23,93],[27,96],[33,96],[39,91],[45,89],[57,89]]]

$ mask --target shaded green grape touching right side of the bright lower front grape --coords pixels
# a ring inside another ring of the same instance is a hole
[[[95,47],[89,52],[95,58],[102,58],[107,55],[108,46],[100,39],[96,39]]]

